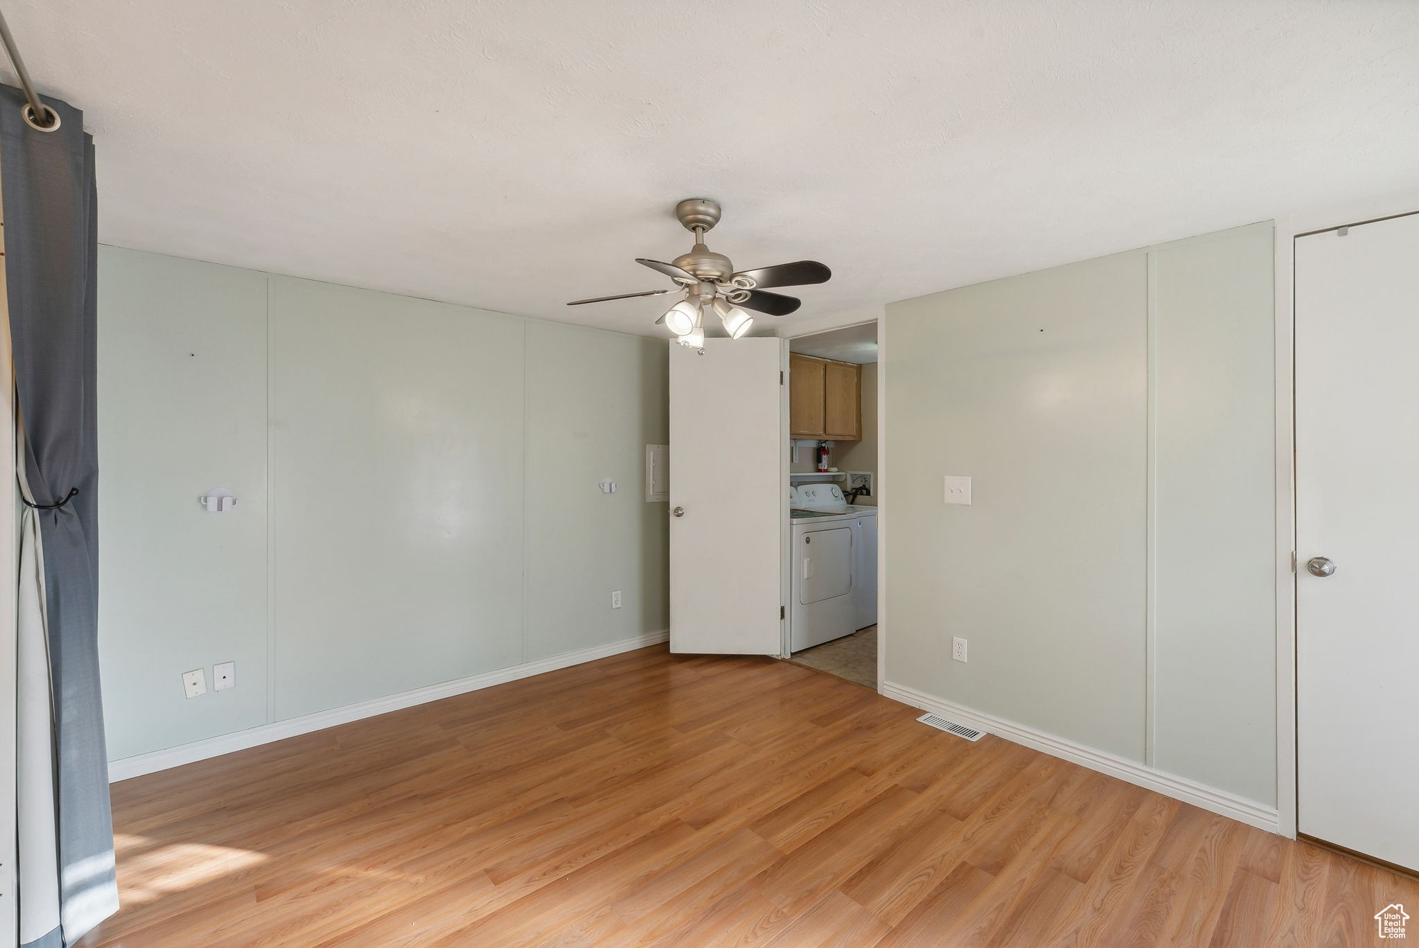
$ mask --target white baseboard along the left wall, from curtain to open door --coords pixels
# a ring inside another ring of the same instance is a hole
[[[400,691],[399,694],[370,698],[369,701],[359,701],[356,704],[346,704],[339,708],[331,708],[329,711],[316,711],[315,714],[302,714],[298,718],[261,724],[244,731],[234,731],[231,734],[207,738],[206,741],[182,744],[165,751],[152,751],[149,754],[126,756],[119,761],[109,761],[108,782],[116,783],[118,781],[126,781],[131,776],[155,773],[158,771],[166,771],[167,768],[182,766],[183,764],[193,764],[194,761],[206,761],[207,758],[221,756],[223,754],[231,754],[233,751],[244,751],[261,744],[294,738],[298,734],[309,734],[311,731],[332,728],[338,724],[349,724],[350,721],[359,721],[360,718],[372,718],[377,714],[387,714],[389,711],[399,711],[400,708],[412,708],[416,704],[427,704],[429,701],[438,701],[440,698],[451,698],[455,694],[467,694],[468,691],[478,691],[480,688],[491,688],[495,684],[517,681],[518,678],[531,678],[532,676],[542,674],[545,671],[556,671],[558,668],[568,668],[586,661],[619,656],[623,651],[633,651],[636,649],[644,649],[646,646],[657,646],[667,639],[670,639],[668,630],[647,632],[641,636],[622,639],[620,641],[610,641],[604,646],[592,646],[590,649],[565,651],[559,656],[538,658],[536,661],[525,661],[507,668],[498,668],[497,671],[485,671],[482,674],[470,676],[467,678],[455,678],[453,681],[441,681],[440,684],[414,688],[413,691]]]

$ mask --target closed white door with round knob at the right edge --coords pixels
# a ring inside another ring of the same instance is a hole
[[[1419,869],[1419,214],[1296,241],[1301,833]],[[1334,573],[1325,563],[1334,563]]]

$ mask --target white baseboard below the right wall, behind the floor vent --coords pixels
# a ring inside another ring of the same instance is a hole
[[[1074,744],[1073,741],[1066,741],[1064,738],[1054,737],[1053,734],[1036,731],[1034,728],[1025,727],[1023,724],[996,718],[981,711],[972,711],[971,708],[944,701],[942,698],[932,697],[893,681],[883,681],[880,691],[883,695],[893,698],[894,701],[901,701],[902,704],[910,704],[914,708],[939,714],[978,731],[995,734],[1006,741],[1023,744],[1027,748],[1087,766],[1091,771],[1117,776],[1118,779],[1128,781],[1137,786],[1156,790],[1164,796],[1171,796],[1176,800],[1182,800],[1183,803],[1192,803],[1193,806],[1200,806],[1205,810],[1227,816],[1239,823],[1256,826],[1257,829],[1264,829],[1270,833],[1281,832],[1276,808],[1263,806],[1246,798],[1236,796],[1235,793],[1227,793],[1226,790],[1219,790],[1212,786],[1193,783],[1185,778],[1155,771],[1135,761],[1127,761],[1121,756],[1105,754],[1104,751],[1095,751],[1094,748],[1084,746],[1083,744]]]

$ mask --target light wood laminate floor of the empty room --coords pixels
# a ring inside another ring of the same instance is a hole
[[[82,945],[1365,945],[1419,907],[917,714],[661,646],[123,781]]]

